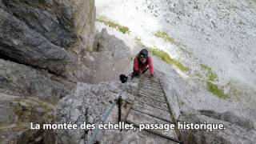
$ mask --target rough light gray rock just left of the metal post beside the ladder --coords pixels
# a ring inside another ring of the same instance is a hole
[[[58,104],[57,123],[77,124],[77,130],[57,130],[58,143],[86,143],[92,135],[91,130],[79,128],[83,122],[102,122],[106,110],[118,98],[120,91],[114,83],[90,85],[78,82],[74,94],[62,98]]]

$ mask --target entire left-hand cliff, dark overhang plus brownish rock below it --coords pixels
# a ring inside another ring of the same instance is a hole
[[[80,60],[93,50],[94,0],[0,0],[0,143],[54,143],[60,98],[88,81]]]

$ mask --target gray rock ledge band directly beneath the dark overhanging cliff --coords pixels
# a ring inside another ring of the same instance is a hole
[[[0,59],[0,92],[18,96],[31,96],[58,102],[70,93],[62,82],[53,80],[46,70]],[[71,86],[71,85],[70,85]]]

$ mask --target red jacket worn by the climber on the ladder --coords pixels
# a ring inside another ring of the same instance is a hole
[[[150,74],[154,75],[154,67],[153,67],[153,62],[152,62],[152,58],[148,57],[147,58],[146,64],[142,64],[142,62],[138,61],[138,57],[134,58],[134,71],[138,71],[140,72],[140,74],[142,74],[142,71],[146,70],[147,65],[149,65],[150,67]]]

